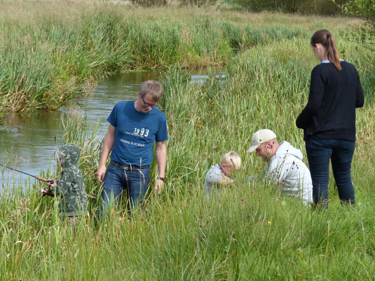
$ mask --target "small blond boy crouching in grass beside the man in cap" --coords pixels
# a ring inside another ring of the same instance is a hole
[[[220,190],[220,187],[230,185],[233,179],[230,179],[232,171],[238,170],[241,167],[241,157],[236,151],[225,153],[220,159],[220,164],[211,166],[211,169],[206,173],[204,181],[204,191],[209,195],[213,190]]]

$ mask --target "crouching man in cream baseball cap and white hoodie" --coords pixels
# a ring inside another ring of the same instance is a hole
[[[262,178],[278,184],[282,193],[312,203],[312,181],[308,167],[302,162],[302,152],[289,142],[280,144],[274,132],[259,130],[251,138],[251,148],[264,162],[269,162]]]

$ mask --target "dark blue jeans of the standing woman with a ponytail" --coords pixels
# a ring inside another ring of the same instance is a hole
[[[350,169],[356,142],[343,139],[306,139],[306,154],[312,179],[314,204],[328,207],[329,161],[331,159],[341,203],[354,204],[354,187]]]

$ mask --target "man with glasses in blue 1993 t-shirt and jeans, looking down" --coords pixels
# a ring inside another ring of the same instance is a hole
[[[96,172],[99,182],[104,182],[101,195],[107,209],[111,197],[118,203],[123,190],[127,192],[129,210],[142,203],[150,183],[155,141],[159,177],[154,189],[158,194],[163,189],[168,132],[165,115],[156,108],[162,93],[158,82],[145,81],[138,92],[138,100],[118,102],[107,119],[110,126]],[[110,153],[111,162],[106,169]]]

